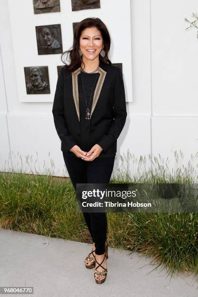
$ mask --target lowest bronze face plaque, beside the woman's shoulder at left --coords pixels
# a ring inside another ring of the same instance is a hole
[[[27,94],[50,94],[48,66],[24,67]]]

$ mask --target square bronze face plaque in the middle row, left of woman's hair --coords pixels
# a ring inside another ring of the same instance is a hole
[[[63,52],[61,25],[36,26],[38,55],[59,54]]]

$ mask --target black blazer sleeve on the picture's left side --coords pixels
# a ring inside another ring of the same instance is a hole
[[[52,114],[53,114],[56,132],[58,133],[58,136],[63,142],[66,150],[69,151],[70,148],[76,145],[76,142],[73,139],[72,135],[69,134],[66,127],[66,121],[64,116],[63,89],[64,89],[64,78],[63,78],[63,68],[62,68],[56,84]]]

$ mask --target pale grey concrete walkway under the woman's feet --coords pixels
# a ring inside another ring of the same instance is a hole
[[[0,286],[32,286],[34,294],[22,296],[33,297],[198,297],[193,276],[170,280],[162,268],[150,272],[150,258],[114,248],[107,279],[97,284],[83,263],[90,251],[85,243],[1,229]]]

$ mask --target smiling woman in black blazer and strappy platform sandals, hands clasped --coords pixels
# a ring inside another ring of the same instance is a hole
[[[127,117],[121,70],[108,58],[110,43],[105,24],[85,18],[75,28],[72,49],[62,54],[69,53],[70,64],[59,74],[52,113],[75,189],[77,183],[109,183]],[[85,266],[95,267],[95,280],[102,283],[108,258],[106,214],[83,216],[93,239]]]

